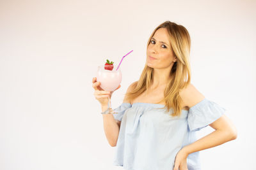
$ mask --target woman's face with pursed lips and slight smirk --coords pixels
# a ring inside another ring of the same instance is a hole
[[[147,66],[161,69],[170,67],[176,61],[165,28],[157,29],[147,48]],[[173,62],[174,61],[174,62]]]

